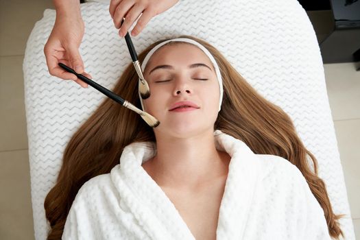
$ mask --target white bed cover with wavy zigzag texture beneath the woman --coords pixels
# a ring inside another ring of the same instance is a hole
[[[131,62],[125,40],[117,34],[108,3],[83,3],[81,10],[86,29],[80,53],[86,71],[112,88]],[[64,147],[105,97],[91,86],[82,88],[49,75],[43,48],[55,16],[55,10],[47,9],[36,22],[23,62],[38,240],[47,236],[43,202],[55,184]],[[180,34],[203,38],[217,47],[259,93],[290,115],[304,145],[319,162],[333,210],[347,215],[340,221],[346,239],[355,239],[320,49],[298,1],[181,0],[155,16],[133,42],[141,52],[156,40]]]

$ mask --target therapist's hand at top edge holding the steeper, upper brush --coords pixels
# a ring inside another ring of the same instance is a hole
[[[119,29],[119,35],[125,36],[134,21],[139,18],[132,29],[131,35],[137,36],[149,23],[152,17],[165,12],[179,0],[111,0],[109,12],[114,21],[114,25]],[[123,25],[121,20],[125,18]]]

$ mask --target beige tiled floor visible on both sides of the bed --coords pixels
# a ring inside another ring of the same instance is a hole
[[[0,0],[0,239],[34,239],[23,94],[25,43],[50,0]],[[324,64],[355,234],[360,239],[360,71]]]

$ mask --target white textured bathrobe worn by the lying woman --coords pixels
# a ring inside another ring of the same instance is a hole
[[[217,149],[231,156],[219,208],[217,240],[331,239],[324,211],[299,169],[285,158],[254,154],[216,130]],[[153,142],[123,149],[110,173],[88,180],[71,206],[62,239],[195,239],[165,192],[141,167]]]

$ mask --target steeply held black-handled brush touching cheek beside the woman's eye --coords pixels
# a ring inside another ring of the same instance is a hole
[[[123,20],[121,21],[121,25],[123,25]],[[120,27],[121,27],[120,25]],[[147,99],[147,97],[150,97],[150,88],[149,88],[149,84],[147,84],[145,77],[143,75],[143,71],[141,71],[141,66],[140,66],[140,62],[138,60],[138,56],[136,54],[135,51],[135,47],[132,44],[132,40],[130,38],[130,34],[129,32],[126,33],[125,35],[125,41],[126,41],[126,45],[128,45],[128,49],[130,52],[130,56],[132,59],[132,64],[134,64],[136,73],[139,76],[139,91],[140,91],[140,95],[143,99]]]

